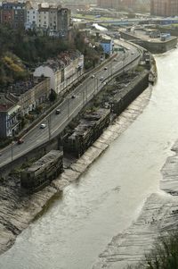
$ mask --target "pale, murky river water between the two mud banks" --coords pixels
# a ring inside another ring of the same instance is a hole
[[[0,256],[1,269],[91,269],[158,191],[160,169],[178,139],[178,49],[156,60],[158,84],[149,105]]]

